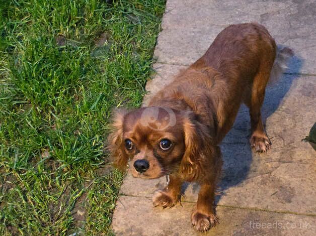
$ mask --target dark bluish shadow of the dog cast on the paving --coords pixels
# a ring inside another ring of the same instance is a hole
[[[285,71],[285,74],[281,75],[278,81],[267,86],[265,101],[262,107],[264,124],[266,124],[267,118],[279,107],[284,96],[290,89],[292,81],[298,77],[301,65],[302,60],[294,56],[289,61],[287,65],[288,69]],[[252,152],[249,144],[250,128],[249,109],[243,104],[236,117],[233,128],[220,145],[224,164],[218,185],[218,195],[216,195],[215,198],[215,204],[217,204],[220,198],[225,194],[225,190],[239,185],[247,179],[251,165],[253,166],[252,171],[256,171],[256,165],[253,163],[253,156],[258,154]],[[185,184],[183,186],[183,191],[185,191],[187,187],[188,184]],[[199,186],[193,184],[192,188],[193,193],[197,194]]]

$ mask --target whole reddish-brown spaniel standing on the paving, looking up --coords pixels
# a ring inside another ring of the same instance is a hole
[[[279,51],[280,61],[291,56]],[[153,197],[154,206],[174,206],[184,181],[201,189],[192,224],[207,231],[217,222],[214,192],[221,172],[219,144],[231,129],[242,102],[250,109],[250,145],[266,152],[271,142],[260,109],[277,48],[259,24],[231,25],[215,38],[206,53],[158,92],[148,107],[117,111],[109,147],[115,165],[129,167],[134,177],[170,175],[170,183]],[[279,62],[279,61],[278,61]],[[275,65],[275,66],[273,66]]]

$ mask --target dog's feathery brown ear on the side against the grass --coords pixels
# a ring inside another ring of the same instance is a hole
[[[108,136],[108,149],[111,152],[113,165],[121,170],[127,167],[128,157],[122,151],[123,145],[123,123],[124,116],[127,113],[125,109],[117,109],[113,114],[112,132]]]

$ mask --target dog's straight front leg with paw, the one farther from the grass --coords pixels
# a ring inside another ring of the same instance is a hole
[[[201,232],[206,232],[218,222],[214,208],[214,184],[213,181],[201,185],[197,205],[191,215],[192,225]]]

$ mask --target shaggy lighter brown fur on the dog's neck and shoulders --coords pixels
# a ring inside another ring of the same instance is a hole
[[[205,75],[207,78],[201,79]],[[225,133],[221,132],[226,119],[226,113],[222,109],[232,102],[228,100],[225,81],[218,79],[220,76],[222,75],[211,67],[190,67],[182,71],[175,82],[171,82],[154,95],[148,106],[193,111],[199,122],[214,131],[212,136],[214,135],[219,143],[224,135],[217,137],[217,134]]]

